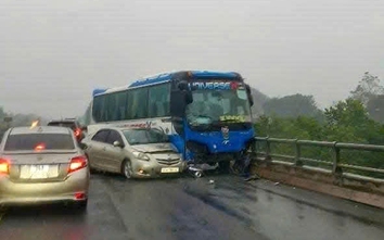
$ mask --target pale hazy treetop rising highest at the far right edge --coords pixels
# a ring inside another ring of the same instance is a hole
[[[355,90],[350,91],[351,98],[360,100],[364,105],[370,99],[377,94],[384,94],[384,88],[380,85],[377,76],[366,72]]]

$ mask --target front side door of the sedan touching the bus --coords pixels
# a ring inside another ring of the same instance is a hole
[[[111,170],[120,173],[121,162],[125,159],[125,151],[121,147],[115,147],[115,141],[124,144],[121,135],[114,129],[111,129],[110,135],[106,138],[107,147],[105,148],[105,166]]]

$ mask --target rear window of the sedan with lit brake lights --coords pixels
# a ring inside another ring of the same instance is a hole
[[[10,135],[4,146],[5,151],[71,149],[75,149],[75,143],[68,134]]]

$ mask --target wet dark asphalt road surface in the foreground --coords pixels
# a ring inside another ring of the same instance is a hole
[[[209,180],[215,184],[209,184]],[[125,180],[92,175],[88,212],[0,211],[0,239],[383,239],[384,211],[229,175]]]

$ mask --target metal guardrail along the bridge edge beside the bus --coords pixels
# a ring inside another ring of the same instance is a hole
[[[332,168],[332,174],[337,176],[346,176],[348,174],[344,173],[344,169],[349,170],[359,170],[364,173],[375,173],[383,174],[383,168],[374,168],[368,166],[359,166],[354,164],[341,163],[341,151],[342,150],[357,150],[357,151],[369,151],[369,152],[384,152],[384,146],[374,146],[374,144],[355,144],[355,143],[343,143],[343,142],[328,142],[328,141],[309,141],[309,140],[298,140],[298,139],[279,139],[279,138],[269,138],[269,137],[256,137],[255,153],[256,157],[259,160],[259,155],[264,156],[264,160],[267,162],[273,162],[277,164],[291,164],[296,167],[304,167],[308,163],[316,163],[320,166],[320,169],[313,168],[313,170],[324,170],[328,166]],[[259,151],[259,144],[265,144],[265,151]],[[273,143],[284,143],[291,144],[295,150],[294,155],[284,155],[277,154],[271,152],[271,144]],[[331,161],[319,160],[319,159],[309,159],[302,156],[303,147],[322,147],[329,148],[333,152]],[[290,160],[290,161],[286,161]],[[384,159],[383,159],[384,161]],[[348,162],[348,161],[347,161]],[[310,164],[309,164],[310,165]],[[357,175],[355,178],[367,178],[367,175]],[[371,177],[371,176],[369,176]],[[376,178],[382,180],[383,178]]]

